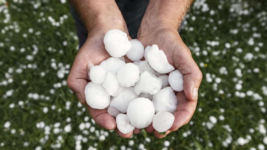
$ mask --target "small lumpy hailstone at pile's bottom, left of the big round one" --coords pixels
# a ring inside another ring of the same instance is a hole
[[[134,127],[129,123],[129,119],[126,114],[120,113],[116,117],[116,124],[119,131],[123,134],[132,132]]]

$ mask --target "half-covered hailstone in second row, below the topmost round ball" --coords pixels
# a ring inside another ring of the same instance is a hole
[[[124,65],[125,62],[120,58],[109,57],[107,60],[102,61],[99,66],[104,67],[106,69],[106,72],[111,71],[116,74]]]

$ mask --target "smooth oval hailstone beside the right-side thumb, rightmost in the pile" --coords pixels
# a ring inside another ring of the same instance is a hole
[[[168,79],[170,86],[177,92],[183,90],[183,75],[179,70],[174,70],[169,74]]]

